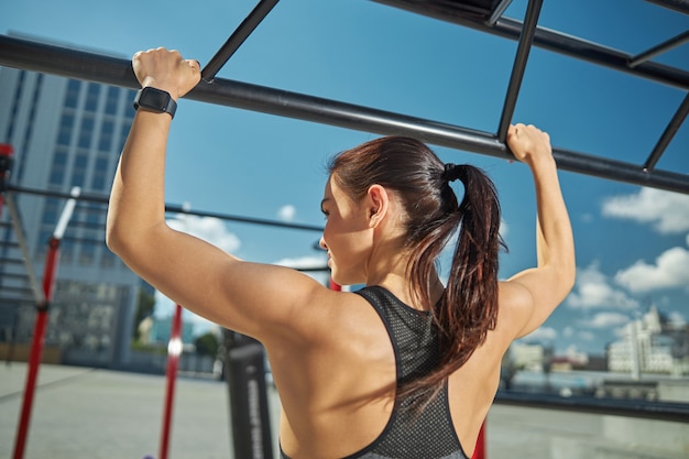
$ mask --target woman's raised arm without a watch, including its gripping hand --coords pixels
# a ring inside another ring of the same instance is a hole
[[[575,242],[548,134],[516,124],[508,130],[507,144],[532,171],[537,205],[537,265],[500,286],[500,307],[506,309],[514,338],[520,338],[538,328],[571,291]]]

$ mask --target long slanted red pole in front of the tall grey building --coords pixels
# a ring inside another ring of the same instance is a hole
[[[36,389],[41,356],[43,354],[43,343],[45,340],[45,328],[47,321],[47,307],[53,294],[53,284],[55,281],[55,271],[57,266],[58,255],[59,239],[53,237],[48,242],[48,251],[45,259],[45,267],[43,272],[43,293],[45,295],[45,303],[37,305],[36,321],[34,325],[33,339],[31,342],[31,356],[29,359],[29,374],[26,375],[24,400],[22,404],[19,427],[17,430],[17,441],[14,442],[14,459],[22,459],[24,457],[24,448],[26,446],[26,437],[29,434],[29,422],[31,419],[31,408],[33,405],[33,395]]]

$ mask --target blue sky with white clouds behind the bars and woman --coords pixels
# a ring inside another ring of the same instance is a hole
[[[546,0],[539,24],[628,53],[689,29],[689,15],[643,0]],[[157,46],[201,65],[253,0],[184,8],[162,0],[0,6],[0,33],[130,57]],[[523,19],[525,1],[505,15]],[[219,77],[359,103],[480,131],[496,130],[516,43],[364,0],[283,0]],[[689,45],[656,61],[689,69]],[[643,163],[685,94],[534,48],[514,121],[550,133],[558,147]],[[376,136],[195,101],[181,101],[171,136],[167,201],[196,210],[322,225],[327,159]],[[510,253],[507,277],[535,262],[535,203],[523,164],[434,147],[495,181]],[[689,173],[685,123],[658,163]],[[560,173],[577,243],[572,294],[532,338],[602,353],[650,304],[689,320],[689,197]],[[261,262],[321,264],[317,232],[187,219],[187,228]],[[168,305],[161,302],[161,310]],[[167,308],[167,309],[166,309]]]

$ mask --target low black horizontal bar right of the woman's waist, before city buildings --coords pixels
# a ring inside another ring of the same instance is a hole
[[[641,400],[595,398],[586,396],[564,397],[551,394],[527,394],[500,391],[495,403],[528,408],[560,409],[577,413],[637,417],[653,420],[687,423],[689,404],[647,402]]]

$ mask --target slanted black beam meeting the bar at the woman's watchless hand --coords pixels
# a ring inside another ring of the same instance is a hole
[[[538,25],[538,17],[540,15],[542,6],[543,0],[529,0],[528,7],[526,8],[524,29],[522,29],[522,35],[520,36],[520,44],[514,58],[514,65],[512,66],[510,84],[507,85],[507,96],[505,97],[505,103],[503,105],[500,124],[497,127],[497,139],[500,139],[501,142],[504,142],[507,139],[507,129],[510,128],[510,122],[514,116],[514,108],[516,107],[516,100],[520,96],[520,89],[522,88],[524,70],[526,69],[528,54],[532,51],[534,32]]]

